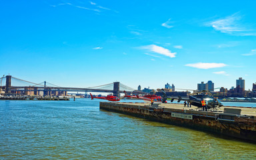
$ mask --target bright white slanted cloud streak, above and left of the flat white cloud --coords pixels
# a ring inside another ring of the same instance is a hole
[[[172,53],[171,51],[169,51],[169,49],[165,49],[163,47],[157,46],[157,45],[145,45],[142,47],[139,47],[140,49],[147,49],[148,51],[154,52],[154,53],[158,53],[160,55],[165,55],[167,57],[176,57],[175,55],[177,53]]]

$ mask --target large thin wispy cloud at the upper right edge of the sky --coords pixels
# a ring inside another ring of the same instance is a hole
[[[220,31],[221,33],[228,33],[232,35],[241,35],[241,36],[249,36],[256,35],[255,30],[249,29],[245,23],[242,23],[242,16],[239,13],[235,13],[233,15],[217,19],[215,21],[210,21],[205,23],[206,26],[213,27],[216,31]]]

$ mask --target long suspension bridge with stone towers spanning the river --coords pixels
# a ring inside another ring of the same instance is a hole
[[[2,83],[4,83],[3,85]],[[60,87],[52,83],[43,81],[41,83],[33,83],[12,77],[11,75],[1,77],[1,93],[4,94],[25,94],[25,95],[67,95],[67,92],[100,92],[100,93],[113,93],[114,96],[120,97],[120,93],[143,93],[141,91],[135,91],[135,89],[128,87],[120,82],[108,83],[105,85],[99,85],[95,87]]]

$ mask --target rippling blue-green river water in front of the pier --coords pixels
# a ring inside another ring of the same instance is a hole
[[[0,101],[0,159],[256,159],[255,144],[103,111],[99,101]]]

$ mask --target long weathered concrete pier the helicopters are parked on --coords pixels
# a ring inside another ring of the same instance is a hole
[[[256,108],[221,107],[219,111],[201,111],[195,106],[183,107],[181,104],[154,107],[148,103],[101,102],[100,109],[256,143]]]

